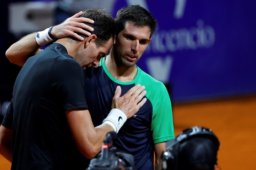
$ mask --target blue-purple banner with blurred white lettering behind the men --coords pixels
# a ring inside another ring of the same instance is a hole
[[[172,86],[172,101],[256,94],[256,1],[118,0],[139,4],[158,29],[137,63]]]

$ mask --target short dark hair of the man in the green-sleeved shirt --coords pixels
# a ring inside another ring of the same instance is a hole
[[[132,23],[134,26],[149,27],[150,38],[155,33],[157,21],[145,8],[139,5],[124,6],[117,11],[117,34],[121,32],[126,23]]]

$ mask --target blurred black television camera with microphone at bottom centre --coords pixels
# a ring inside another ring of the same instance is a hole
[[[117,138],[116,132],[109,132],[101,147],[97,158],[90,161],[86,170],[133,170],[134,158],[128,153],[116,152],[113,140]]]

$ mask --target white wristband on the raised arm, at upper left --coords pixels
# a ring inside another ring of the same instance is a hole
[[[54,37],[50,34],[51,30],[52,30],[52,27],[46,28],[43,31],[37,32],[36,33],[37,44],[43,46],[43,45],[46,45],[48,42],[53,41],[54,39],[52,39],[52,38],[54,38]],[[51,38],[51,36],[52,36],[52,38]]]

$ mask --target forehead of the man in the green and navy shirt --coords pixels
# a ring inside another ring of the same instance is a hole
[[[147,26],[135,26],[133,23],[126,23],[124,29],[121,31],[123,34],[133,35],[140,39],[149,39],[150,28]]]

